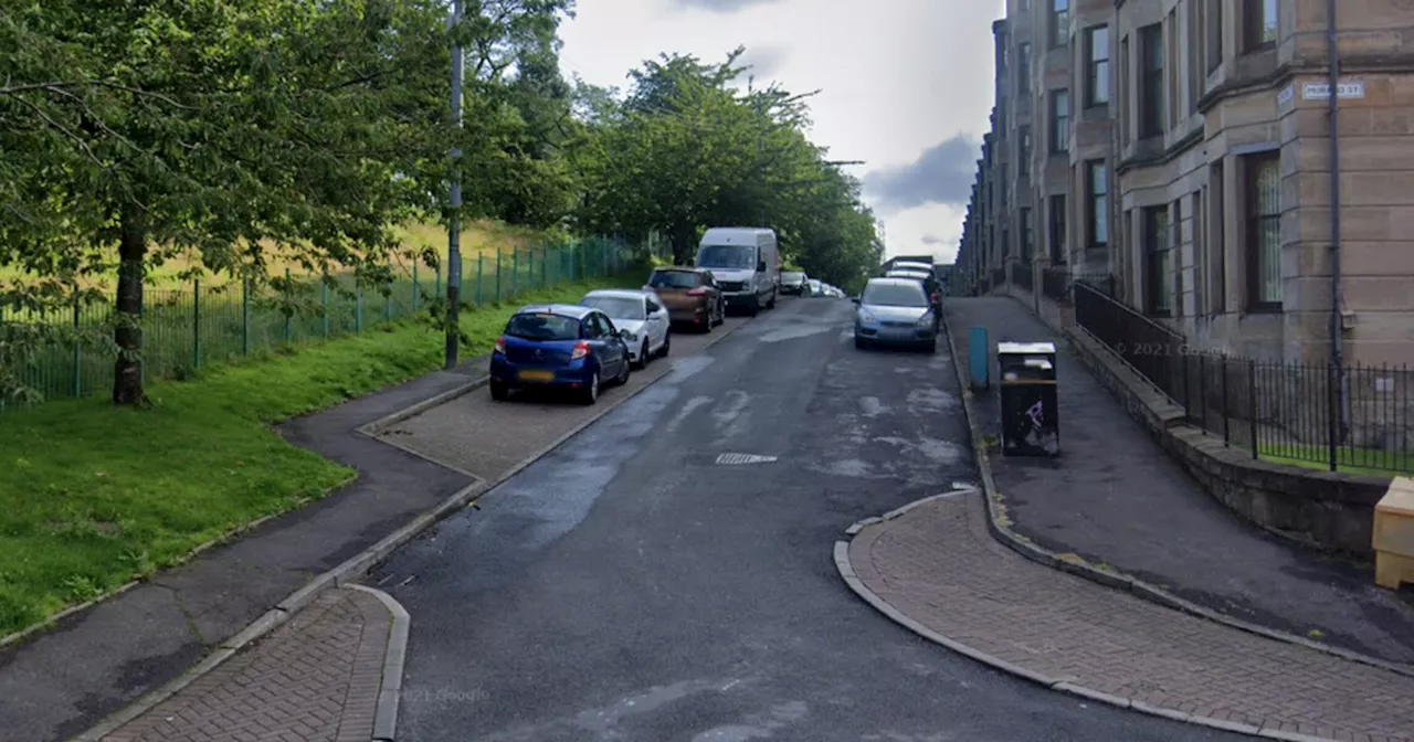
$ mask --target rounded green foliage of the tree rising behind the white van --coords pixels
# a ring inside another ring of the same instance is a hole
[[[734,86],[747,68],[663,55],[631,73],[632,88],[580,86],[592,133],[575,151],[584,178],[583,229],[642,239],[665,232],[679,263],[707,226],[773,226],[786,260],[840,285],[877,264],[874,216],[860,184],[809,141],[806,100],[778,85]]]

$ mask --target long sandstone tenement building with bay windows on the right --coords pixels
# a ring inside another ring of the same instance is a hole
[[[1339,245],[1345,360],[1414,362],[1414,4],[1008,0],[993,33],[964,291],[1104,277],[1195,346],[1325,363]]]

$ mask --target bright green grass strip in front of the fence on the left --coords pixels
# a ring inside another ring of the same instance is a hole
[[[489,352],[516,307],[578,301],[642,276],[526,291],[464,315],[465,358]],[[198,546],[297,509],[354,471],[280,438],[270,424],[440,367],[424,324],[382,325],[269,351],[153,384],[150,410],[51,401],[0,424],[0,636],[189,558]]]

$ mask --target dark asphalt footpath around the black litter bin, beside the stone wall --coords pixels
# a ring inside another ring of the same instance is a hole
[[[1379,588],[1367,567],[1281,540],[1225,507],[1021,302],[956,298],[946,314],[960,367],[974,326],[987,328],[993,349],[1049,341],[1059,351],[1060,457],[990,461],[1012,530],[1227,616],[1414,664],[1414,592]],[[971,400],[988,435],[1000,427],[997,389],[993,379]]]

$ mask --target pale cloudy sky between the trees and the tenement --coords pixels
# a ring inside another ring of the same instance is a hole
[[[950,263],[993,105],[991,23],[1004,0],[580,0],[561,66],[625,88],[662,52],[724,59],[812,99],[810,139],[851,172],[887,254]]]

